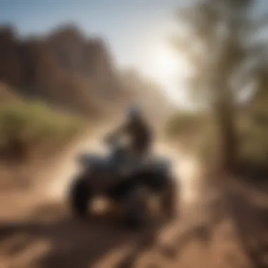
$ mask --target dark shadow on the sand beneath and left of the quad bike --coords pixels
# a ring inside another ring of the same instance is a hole
[[[159,222],[153,228],[134,232],[123,229],[116,219],[107,219],[107,215],[82,221],[68,219],[64,214],[61,205],[46,205],[33,214],[34,220],[1,222],[1,255],[10,260],[20,258],[29,248],[35,248],[36,243],[44,243],[49,245],[48,249],[30,257],[25,267],[92,267],[116,248],[129,243],[139,244],[139,251],[133,253],[133,258],[138,257],[154,244],[164,224]],[[27,254],[30,256],[35,251]],[[24,267],[22,264],[11,266]]]

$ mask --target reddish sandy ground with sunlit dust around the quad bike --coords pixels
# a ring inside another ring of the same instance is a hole
[[[139,233],[123,229],[113,216],[72,219],[65,197],[79,171],[74,158],[82,151],[103,150],[100,133],[43,167],[30,190],[1,192],[0,268],[267,267],[264,188],[208,179],[196,159],[163,143],[157,151],[173,159],[181,180],[178,219],[154,221]]]

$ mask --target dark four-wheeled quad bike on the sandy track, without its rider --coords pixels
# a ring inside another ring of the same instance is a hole
[[[133,163],[126,145],[108,145],[108,155],[82,154],[78,158],[82,171],[73,180],[68,197],[73,213],[85,217],[94,197],[104,196],[121,206],[123,221],[137,229],[147,222],[152,193],[159,197],[162,212],[169,218],[176,217],[178,182],[171,174],[169,161],[150,157]]]

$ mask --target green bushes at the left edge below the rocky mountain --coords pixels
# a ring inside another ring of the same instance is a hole
[[[14,102],[0,106],[2,146],[15,138],[27,146],[63,145],[83,130],[80,118],[61,114],[43,102]]]

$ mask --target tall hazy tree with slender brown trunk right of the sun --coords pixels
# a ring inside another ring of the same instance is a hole
[[[254,7],[254,0],[201,0],[176,14],[180,28],[173,44],[194,67],[190,94],[214,112],[221,166],[227,170],[236,164],[238,97],[249,85],[253,92],[263,77],[266,44],[256,30],[265,26],[266,17],[254,18]]]

